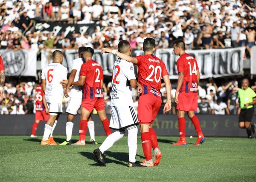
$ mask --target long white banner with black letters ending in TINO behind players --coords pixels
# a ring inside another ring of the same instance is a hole
[[[160,58],[166,65],[170,79],[177,79],[176,56],[173,49],[157,49],[154,54]],[[42,51],[41,68],[52,62],[52,51]],[[243,56],[245,47],[227,48],[227,49],[208,49],[208,50],[187,50],[186,53],[192,54],[198,61],[201,78],[223,77],[232,75],[241,75],[243,73]],[[63,65],[71,72],[72,60],[76,59],[77,50],[67,50],[63,52]],[[135,50],[133,57],[143,55],[141,50]],[[93,60],[97,61],[103,68],[104,75],[112,75],[113,63],[117,57],[113,54],[101,54],[100,50],[94,50]],[[135,70],[137,74],[137,70]]]

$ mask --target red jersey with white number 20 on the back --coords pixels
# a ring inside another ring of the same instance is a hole
[[[168,75],[166,70],[166,65],[158,57],[153,54],[147,54],[143,56],[137,56],[138,60],[138,80],[140,84],[144,87],[143,94],[150,94],[150,92],[156,89],[160,92],[161,88],[161,78]],[[149,90],[153,88],[152,90]],[[148,92],[148,93],[146,93]]]

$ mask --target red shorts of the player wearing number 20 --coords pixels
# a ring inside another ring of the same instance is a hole
[[[140,124],[152,124],[157,117],[162,100],[150,94],[139,97],[138,119]]]

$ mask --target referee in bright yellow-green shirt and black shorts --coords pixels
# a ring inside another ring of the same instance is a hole
[[[254,108],[256,104],[256,94],[249,87],[249,80],[247,78],[242,81],[242,88],[238,91],[238,102],[240,103],[240,114],[239,114],[239,128],[246,128],[248,138],[252,138],[252,131],[255,134],[256,124],[251,124],[253,119]]]

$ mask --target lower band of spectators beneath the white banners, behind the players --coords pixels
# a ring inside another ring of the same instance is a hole
[[[256,91],[256,82],[250,78],[251,88]],[[174,102],[175,89],[177,86],[176,80],[172,81],[172,110],[169,114],[176,114],[176,104]],[[217,82],[216,82],[217,81]],[[200,80],[198,86],[198,110],[196,114],[239,114],[239,105],[236,105],[238,99],[238,90],[241,88],[242,79],[204,79]],[[3,88],[3,97],[0,99],[0,114],[33,114],[35,113],[35,88],[37,83],[34,81],[17,82],[9,80]],[[166,102],[166,89],[164,83],[161,87],[163,93],[163,105]],[[104,100],[106,113],[111,114],[110,95],[111,82],[105,82],[103,86]],[[137,112],[138,94],[137,90],[133,89],[132,99]],[[63,110],[67,107],[69,98],[63,98]],[[163,113],[163,107],[160,109],[160,114]],[[93,111],[96,114],[96,111]]]

